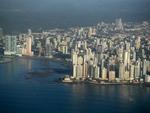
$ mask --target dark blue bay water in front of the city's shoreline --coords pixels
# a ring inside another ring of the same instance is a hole
[[[62,71],[57,71],[57,70]],[[49,71],[50,70],[50,71]],[[28,76],[46,72],[47,76]],[[69,73],[62,64],[45,59],[18,58],[0,64],[0,113],[148,113],[150,88],[61,84]]]

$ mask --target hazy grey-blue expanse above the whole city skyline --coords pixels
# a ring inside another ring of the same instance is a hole
[[[95,25],[100,21],[150,21],[150,0],[0,0],[6,33]]]

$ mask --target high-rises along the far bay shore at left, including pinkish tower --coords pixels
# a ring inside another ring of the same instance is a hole
[[[3,36],[4,55],[51,58],[54,53],[69,54],[70,37],[58,32],[62,31],[52,30],[50,32],[32,33],[29,29],[27,33],[5,35]]]

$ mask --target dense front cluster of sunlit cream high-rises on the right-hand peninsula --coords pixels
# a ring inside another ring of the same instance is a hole
[[[150,72],[149,54],[141,53],[139,38],[117,45],[112,39],[95,39],[94,48],[87,46],[87,40],[77,41],[72,50],[73,78],[138,82]]]

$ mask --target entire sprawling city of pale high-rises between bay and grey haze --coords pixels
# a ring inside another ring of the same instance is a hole
[[[74,79],[142,81],[150,75],[150,25],[146,21],[131,24],[116,19],[90,27],[40,33],[29,29],[28,33],[0,37],[5,55],[70,55]]]

